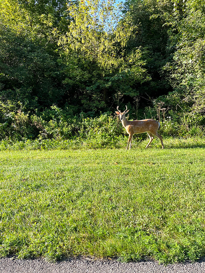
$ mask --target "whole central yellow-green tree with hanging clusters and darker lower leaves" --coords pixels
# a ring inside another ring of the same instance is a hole
[[[86,97],[100,98],[104,102],[101,107],[105,107],[119,92],[137,95],[133,82],[146,80],[146,71],[139,48],[127,51],[127,42],[137,27],[131,17],[122,17],[114,0],[69,2],[68,11],[71,23],[59,44],[65,48],[70,67],[67,82],[72,81],[72,73],[84,73],[84,105]],[[75,72],[71,56],[76,58]]]

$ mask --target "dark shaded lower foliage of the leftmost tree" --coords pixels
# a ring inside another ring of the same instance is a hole
[[[29,110],[61,102],[65,88],[55,53],[9,31],[2,30],[0,39],[1,99],[20,101]]]

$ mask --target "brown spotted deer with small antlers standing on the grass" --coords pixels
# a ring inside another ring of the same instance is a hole
[[[142,120],[127,120],[125,115],[129,112],[128,107],[126,105],[126,109],[124,112],[121,112],[119,110],[119,106],[117,107],[118,111],[115,111],[115,113],[119,116],[121,122],[122,122],[122,126],[125,127],[126,132],[129,135],[128,138],[128,145],[126,147],[126,150],[128,150],[128,146],[130,144],[130,148],[131,149],[131,143],[132,143],[132,137],[134,134],[141,134],[141,133],[145,133],[147,132],[147,134],[150,137],[150,141],[147,144],[146,148],[149,147],[149,145],[151,144],[151,142],[153,141],[153,135],[155,135],[156,137],[158,137],[161,141],[162,144],[162,149],[164,149],[164,144],[162,141],[162,136],[159,135],[159,133],[157,132],[160,128],[160,123],[159,121],[155,120],[155,119],[142,119]]]

